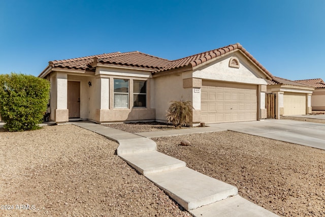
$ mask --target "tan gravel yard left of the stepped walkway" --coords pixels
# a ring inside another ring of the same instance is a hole
[[[0,129],[0,216],[190,215],[117,157],[117,146],[73,125]]]

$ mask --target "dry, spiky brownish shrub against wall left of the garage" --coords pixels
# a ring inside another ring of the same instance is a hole
[[[186,126],[192,116],[193,107],[190,103],[191,101],[172,101],[166,115],[168,122],[176,128]]]

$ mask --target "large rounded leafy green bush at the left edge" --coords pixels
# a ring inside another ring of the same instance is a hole
[[[50,97],[49,81],[32,75],[0,75],[0,114],[8,131],[39,129]]]

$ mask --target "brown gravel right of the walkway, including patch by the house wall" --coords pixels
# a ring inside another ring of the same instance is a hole
[[[135,133],[159,125],[108,127]],[[241,196],[278,215],[325,216],[325,150],[231,131],[153,140],[158,151],[235,185]],[[181,146],[181,140],[191,145]]]

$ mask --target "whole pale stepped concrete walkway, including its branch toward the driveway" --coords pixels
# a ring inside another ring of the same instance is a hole
[[[75,122],[81,128],[117,141],[117,155],[163,189],[194,216],[277,216],[240,197],[230,184],[186,167],[186,163],[156,150],[145,133],[132,134],[95,123]],[[151,137],[224,131],[218,127],[159,131]],[[150,135],[149,135],[150,136]]]

